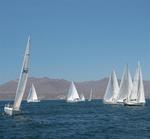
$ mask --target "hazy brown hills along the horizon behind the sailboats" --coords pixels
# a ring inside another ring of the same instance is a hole
[[[0,85],[0,99],[14,99],[17,88],[17,80],[9,81]],[[70,82],[64,79],[29,78],[24,99],[26,99],[31,83],[35,85],[37,94],[41,99],[65,99]],[[93,89],[94,98],[102,99],[107,87],[108,78],[98,81],[75,82],[79,94],[83,93],[89,98],[90,90]],[[145,96],[150,97],[150,81],[144,81]]]

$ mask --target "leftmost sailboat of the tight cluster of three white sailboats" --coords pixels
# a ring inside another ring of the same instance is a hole
[[[116,104],[118,94],[119,94],[118,80],[115,70],[113,70],[112,74],[109,77],[103,102],[106,104]]]

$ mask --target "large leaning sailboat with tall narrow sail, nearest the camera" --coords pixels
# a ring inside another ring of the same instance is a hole
[[[25,92],[26,83],[29,74],[29,58],[30,58],[30,37],[28,38],[27,47],[24,54],[23,65],[21,69],[21,74],[18,82],[18,87],[16,90],[16,96],[14,104],[7,104],[4,107],[4,112],[8,115],[13,115],[20,111],[21,101]]]

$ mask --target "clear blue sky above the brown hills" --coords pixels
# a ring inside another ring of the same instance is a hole
[[[137,61],[150,80],[149,0],[1,0],[0,84],[17,79],[31,35],[31,77],[99,80]]]

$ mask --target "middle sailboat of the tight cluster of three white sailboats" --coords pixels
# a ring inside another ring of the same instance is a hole
[[[130,71],[128,69],[128,65],[126,65],[125,71],[123,73],[121,83],[120,83],[120,89],[119,89],[119,95],[117,98],[117,103],[122,103],[124,100],[127,99],[128,94],[131,93],[132,89],[132,78],[130,75]]]

